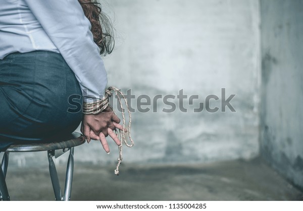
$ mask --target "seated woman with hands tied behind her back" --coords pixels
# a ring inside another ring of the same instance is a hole
[[[0,5],[0,151],[16,140],[71,133],[81,120],[88,143],[98,139],[109,153],[109,134],[119,146],[113,130],[123,127],[110,108],[98,114],[68,112],[69,102],[91,103],[105,93],[100,53],[111,53],[112,36],[102,31],[99,16],[109,25],[97,4],[0,0]]]

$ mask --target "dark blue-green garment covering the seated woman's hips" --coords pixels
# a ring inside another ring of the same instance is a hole
[[[73,132],[82,110],[67,112],[71,95],[82,93],[61,54],[33,51],[0,59],[0,152],[14,142]]]

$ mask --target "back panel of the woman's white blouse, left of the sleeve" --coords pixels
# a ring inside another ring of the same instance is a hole
[[[24,0],[0,0],[0,59],[13,52],[58,52]]]

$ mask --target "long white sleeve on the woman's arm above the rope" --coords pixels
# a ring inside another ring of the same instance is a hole
[[[90,23],[77,0],[25,0],[80,84],[85,99],[102,98],[107,73]]]

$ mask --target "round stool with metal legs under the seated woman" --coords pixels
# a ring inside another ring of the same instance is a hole
[[[54,142],[54,140],[56,140]],[[68,201],[70,200],[71,190],[72,190],[72,180],[74,172],[74,147],[84,144],[85,137],[78,133],[73,132],[70,135],[61,138],[50,138],[49,142],[43,143],[30,143],[30,144],[18,144],[10,146],[5,152],[0,168],[0,200],[10,200],[8,188],[6,185],[6,173],[9,163],[9,154],[15,152],[37,152],[37,151],[47,151],[47,158],[49,163],[49,174],[51,175],[51,180],[55,192],[55,197],[57,201]],[[58,158],[62,154],[70,150],[67,168],[66,168],[66,178],[65,178],[65,189],[64,196],[62,196],[59,178],[56,170],[53,157]]]

